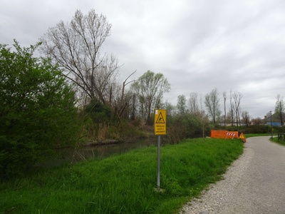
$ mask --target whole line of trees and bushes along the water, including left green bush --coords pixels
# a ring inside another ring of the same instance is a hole
[[[61,148],[153,136],[155,108],[167,109],[167,143],[209,136],[229,120],[232,126],[249,124],[248,113],[240,113],[240,93],[232,93],[222,117],[217,89],[204,98],[178,96],[173,106],[163,101],[170,83],[162,73],[131,79],[134,71],[120,83],[117,58],[102,53],[110,29],[94,10],[76,11],[71,22],[60,21],[34,46],[22,48],[15,40],[13,51],[0,44],[2,179],[33,170]]]

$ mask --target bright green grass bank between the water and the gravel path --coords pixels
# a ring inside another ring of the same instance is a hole
[[[0,185],[0,213],[175,213],[222,178],[243,151],[237,139],[192,139],[48,170]]]

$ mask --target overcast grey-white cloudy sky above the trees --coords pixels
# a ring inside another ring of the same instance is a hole
[[[243,95],[242,111],[264,118],[285,96],[284,0],[0,0],[0,44],[36,44],[77,9],[112,24],[105,50],[123,64],[120,78],[163,73],[173,105],[217,88],[222,110],[222,93],[229,101],[232,90]]]

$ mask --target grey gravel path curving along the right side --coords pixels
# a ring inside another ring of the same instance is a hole
[[[182,213],[285,213],[285,146],[269,136],[247,139],[243,155]]]

